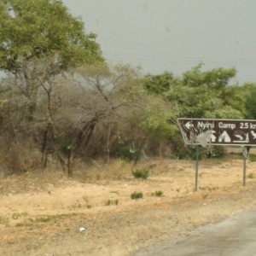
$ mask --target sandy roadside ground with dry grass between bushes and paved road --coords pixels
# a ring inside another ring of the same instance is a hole
[[[256,162],[247,160],[245,187],[242,164],[242,157],[200,161],[196,192],[192,160],[141,162],[146,180],[120,160],[69,179],[50,171],[2,176],[0,255],[132,255],[186,236],[256,205]],[[143,198],[132,200],[135,191]]]

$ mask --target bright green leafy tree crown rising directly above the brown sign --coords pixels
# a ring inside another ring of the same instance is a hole
[[[183,73],[182,79],[171,84],[166,93],[170,101],[176,102],[178,116],[188,118],[240,119],[245,114],[244,99],[239,87],[230,84],[236,69],[223,67],[201,71],[202,64]]]

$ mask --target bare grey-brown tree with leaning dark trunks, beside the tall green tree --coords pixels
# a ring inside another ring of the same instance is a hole
[[[139,70],[119,64],[109,69],[85,66],[77,71],[82,79],[79,81],[81,93],[76,101],[79,116],[76,129],[79,132],[74,151],[78,153],[87,149],[97,130],[101,134],[95,137],[91,152],[97,151],[96,154],[99,154],[105,151],[109,158],[113,154],[113,143],[119,138],[120,126],[126,123],[127,113],[136,108],[140,101],[142,88],[138,79]],[[102,126],[105,129],[103,132]],[[101,142],[96,143],[97,139]],[[79,150],[81,148],[83,150]]]

